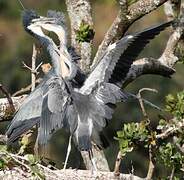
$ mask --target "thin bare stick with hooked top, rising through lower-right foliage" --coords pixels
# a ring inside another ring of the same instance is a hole
[[[141,106],[141,110],[142,110],[143,116],[144,116],[144,118],[146,118],[146,120],[148,122],[150,122],[150,119],[149,119],[149,117],[148,117],[148,115],[146,113],[146,110],[145,110],[145,107],[144,107],[144,103],[143,103],[143,100],[142,100],[142,97],[141,97],[141,92],[143,92],[143,91],[152,91],[152,92],[156,92],[157,93],[157,90],[156,89],[150,89],[150,88],[142,88],[142,89],[139,90],[139,92],[137,94],[137,97],[138,97],[138,100],[139,100],[139,103],[140,103],[140,106]],[[147,177],[146,177],[147,180],[151,180],[152,179],[154,168],[155,168],[155,165],[153,163],[152,145],[149,145],[149,168],[148,168],[148,173],[147,173]]]

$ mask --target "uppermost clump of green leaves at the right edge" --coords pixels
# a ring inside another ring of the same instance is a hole
[[[166,96],[165,110],[178,119],[184,118],[184,91],[177,93],[176,96],[171,94]]]

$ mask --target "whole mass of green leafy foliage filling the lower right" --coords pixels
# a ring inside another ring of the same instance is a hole
[[[177,93],[175,96],[171,94],[166,96],[165,110],[174,117],[167,120],[160,115],[160,121],[155,130],[151,130],[150,124],[145,121],[132,122],[123,125],[122,130],[117,132],[116,139],[119,141],[123,156],[133,151],[138,144],[144,145],[146,149],[151,148],[156,165],[160,164],[170,171],[174,170],[173,179],[177,180],[180,179],[181,169],[184,168],[184,155],[178,148],[178,146],[184,146],[184,132],[179,127],[184,119],[184,91]],[[167,135],[165,132],[170,134]],[[162,138],[157,136],[160,134]],[[171,141],[172,138],[174,138],[174,143]],[[168,177],[162,179],[168,179]]]

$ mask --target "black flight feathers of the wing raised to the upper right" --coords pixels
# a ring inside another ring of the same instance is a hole
[[[172,21],[166,22],[134,34],[133,43],[131,43],[123,52],[123,54],[121,54],[119,61],[116,63],[116,66],[113,69],[109,82],[114,84],[121,84],[126,77],[131,64],[137,58],[139,53],[150,42],[151,39],[153,39],[166,27],[170,26],[171,23]]]

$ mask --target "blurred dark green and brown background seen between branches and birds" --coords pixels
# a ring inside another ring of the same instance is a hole
[[[46,15],[48,9],[62,10],[66,12],[66,6],[63,0],[22,0],[25,7],[36,10],[41,15]],[[114,18],[116,17],[118,7],[115,1],[112,0],[93,0],[93,17],[95,28],[94,39],[94,54],[98,45],[104,37]],[[17,0],[0,0],[0,83],[6,86],[10,93],[14,93],[30,84],[30,72],[22,68],[22,61],[26,64],[31,64],[32,44],[35,42],[23,29],[21,23],[22,8]],[[141,29],[155,25],[159,22],[167,21],[163,12],[163,8],[146,15],[144,18],[134,23],[130,28],[130,32],[137,32]],[[68,23],[69,24],[69,23]],[[169,37],[169,30],[161,33],[155,40],[153,40],[142,52],[140,57],[152,56],[159,57],[165,47]],[[69,38],[69,37],[68,37]],[[40,53],[37,58],[37,64],[43,61],[49,62],[48,56],[45,53]],[[126,88],[127,91],[137,93],[143,87],[155,88],[159,91],[158,94],[151,92],[144,93],[145,98],[158,106],[164,108],[165,95],[168,93],[176,93],[184,87],[182,64],[177,64],[176,73],[172,79],[145,75],[138,78]],[[0,94],[0,97],[3,95]],[[154,127],[158,122],[158,114],[160,112],[147,107],[146,108],[152,126]],[[105,129],[106,136],[109,138],[111,145],[105,150],[111,169],[113,169],[114,161],[118,152],[118,143],[114,140],[116,131],[120,130],[123,123],[130,121],[140,121],[142,119],[139,104],[136,101],[118,104],[118,108],[113,116],[109,126]],[[6,124],[1,125],[1,133],[4,132]],[[58,167],[62,167],[66,154],[66,146],[68,135],[63,131],[58,131],[52,138],[50,144],[51,158],[56,162]],[[145,176],[148,168],[148,152],[139,148],[128,154],[122,162],[122,172],[129,173],[134,169],[134,173],[140,176]],[[70,166],[79,168],[81,165],[80,154],[73,146],[72,155],[69,158]],[[164,174],[161,168],[156,170],[157,174]]]

